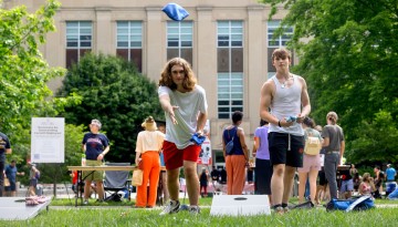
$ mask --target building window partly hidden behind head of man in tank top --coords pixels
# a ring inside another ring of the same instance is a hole
[[[268,21],[268,78],[272,78],[275,74],[275,68],[272,65],[272,52],[277,48],[286,47],[287,42],[293,37],[293,28],[286,28],[284,33],[279,37],[274,37],[274,32],[279,29],[281,21]],[[292,65],[294,65],[294,58],[292,52]]]

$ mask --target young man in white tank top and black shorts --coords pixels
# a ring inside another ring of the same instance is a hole
[[[274,50],[272,64],[276,74],[261,89],[260,116],[270,123],[273,208],[284,213],[289,210],[295,169],[303,166],[304,131],[301,123],[310,114],[311,104],[305,80],[289,70],[290,52],[286,49]],[[295,121],[286,121],[290,116]]]

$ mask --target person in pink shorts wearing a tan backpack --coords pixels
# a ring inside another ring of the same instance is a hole
[[[322,143],[322,137],[318,131],[316,131],[315,122],[310,118],[305,117],[302,124],[304,130],[304,138],[308,140],[308,136],[317,137],[320,140],[320,144]],[[315,196],[316,196],[316,178],[318,172],[321,171],[321,156],[317,155],[308,155],[304,153],[303,159],[303,167],[298,167],[298,203],[302,204],[304,202],[304,190],[305,185],[308,179],[310,183],[310,200],[312,207],[316,204]]]

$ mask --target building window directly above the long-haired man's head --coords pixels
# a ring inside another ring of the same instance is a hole
[[[182,58],[192,65],[192,21],[167,22],[167,59]]]

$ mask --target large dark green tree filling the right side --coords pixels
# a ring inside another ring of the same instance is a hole
[[[262,1],[290,10],[281,25],[294,27],[293,71],[307,81],[312,116],[324,124],[337,112],[350,162],[397,162],[397,1]]]

